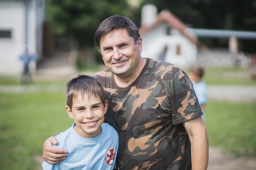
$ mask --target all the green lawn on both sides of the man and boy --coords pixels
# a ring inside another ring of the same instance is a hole
[[[237,80],[235,75],[245,73],[244,69],[211,68],[206,70],[205,82],[256,85],[243,76],[243,81]],[[64,108],[65,83],[66,80],[36,81],[32,86],[19,86],[17,79],[0,77],[0,88],[19,87],[19,90],[0,90],[1,170],[36,169],[35,156],[42,156],[44,141],[72,125],[73,120]],[[209,100],[205,124],[210,146],[228,149],[238,156],[256,156],[255,110],[255,103]]]

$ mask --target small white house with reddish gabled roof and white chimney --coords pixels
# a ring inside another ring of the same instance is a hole
[[[154,5],[142,9],[142,57],[159,59],[167,47],[164,61],[179,67],[196,62],[198,40],[177,17],[169,11],[157,14]]]

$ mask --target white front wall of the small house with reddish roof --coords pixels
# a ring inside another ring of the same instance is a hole
[[[187,67],[196,62],[197,47],[176,29],[160,24],[142,35],[142,57],[159,59],[159,54],[167,46],[165,61],[179,67]]]

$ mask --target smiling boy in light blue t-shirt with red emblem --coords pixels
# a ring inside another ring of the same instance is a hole
[[[56,136],[57,148],[69,156],[59,164],[42,164],[44,169],[113,169],[118,148],[116,130],[103,123],[108,100],[93,77],[78,75],[67,83],[66,111],[74,119],[71,128]]]

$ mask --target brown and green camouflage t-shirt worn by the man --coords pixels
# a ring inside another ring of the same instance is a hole
[[[185,72],[147,58],[128,87],[116,85],[108,70],[94,77],[108,100],[105,121],[119,134],[119,169],[191,169],[190,140],[182,122],[203,113]]]

